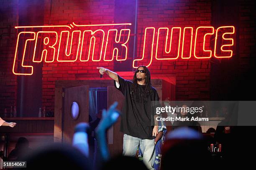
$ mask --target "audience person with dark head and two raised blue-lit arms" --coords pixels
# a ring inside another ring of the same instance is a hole
[[[118,102],[110,106],[109,110],[102,111],[102,119],[95,129],[98,143],[98,164],[102,165],[110,160],[106,142],[106,131],[118,119],[120,112],[116,110]],[[73,145],[55,143],[53,145],[39,148],[23,157],[27,161],[27,168],[38,169],[74,169],[92,170],[92,161],[88,158],[88,136],[89,127],[87,123],[79,123],[74,130]],[[129,161],[129,160],[128,160]],[[111,164],[111,163],[110,163]],[[108,164],[108,165],[110,165]],[[95,167],[99,168],[101,166]],[[142,168],[143,169],[143,168]]]

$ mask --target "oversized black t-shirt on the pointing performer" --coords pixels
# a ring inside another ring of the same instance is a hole
[[[145,85],[138,84],[136,94],[132,99],[133,82],[125,80],[118,75],[119,87],[114,81],[115,87],[125,96],[120,131],[141,139],[154,139],[152,136],[154,125],[154,112],[151,111],[151,101],[159,101],[157,91],[152,87],[151,93],[144,91]],[[154,109],[154,108],[153,108]]]

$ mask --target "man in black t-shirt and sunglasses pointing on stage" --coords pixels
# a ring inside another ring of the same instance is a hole
[[[154,138],[158,125],[154,124],[151,101],[158,101],[157,91],[151,86],[148,68],[139,66],[134,72],[133,81],[125,80],[117,73],[104,67],[97,67],[101,75],[106,73],[114,81],[115,87],[125,96],[121,115],[120,130],[123,135],[123,155],[136,155],[138,145],[143,153],[143,163],[154,169]],[[152,123],[153,122],[153,123]]]

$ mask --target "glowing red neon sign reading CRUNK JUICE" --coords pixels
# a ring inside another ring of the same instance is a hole
[[[33,74],[33,66],[26,64],[25,60],[34,63],[43,60],[46,63],[127,60],[131,29],[123,26],[131,26],[131,23],[17,26],[15,28],[21,31],[17,37],[13,74]],[[195,30],[192,27],[147,27],[144,31],[142,56],[133,60],[133,67],[138,67],[138,62],[142,61],[147,62],[144,65],[150,66],[153,59],[172,61],[180,57],[187,60],[192,55],[197,59],[232,57],[234,33],[234,26],[222,26],[216,30],[210,26],[200,26]],[[211,36],[215,38],[213,50],[208,47]],[[33,52],[28,52],[28,45],[32,46]],[[146,55],[148,51],[149,55]],[[17,67],[24,69],[17,71]]]

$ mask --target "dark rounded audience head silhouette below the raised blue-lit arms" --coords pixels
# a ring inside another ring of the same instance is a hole
[[[26,161],[28,170],[92,170],[90,161],[81,151],[64,143],[38,148],[24,156],[22,161]]]

